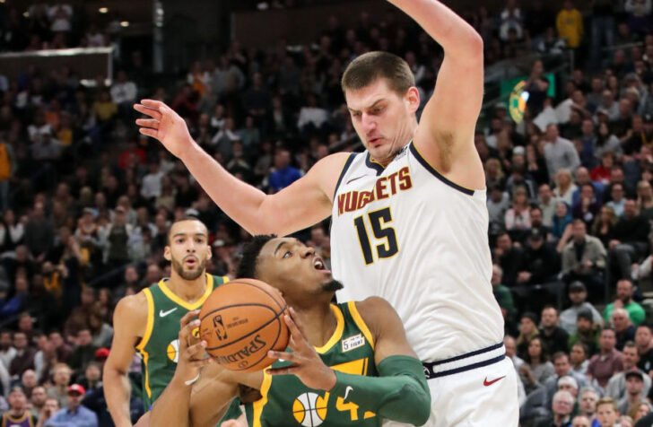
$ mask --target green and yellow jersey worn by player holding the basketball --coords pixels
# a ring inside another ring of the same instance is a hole
[[[337,319],[334,335],[316,347],[322,361],[333,370],[349,374],[378,375],[374,363],[374,340],[356,309],[355,302],[332,305]],[[274,362],[283,368],[290,362]],[[245,405],[251,427],[378,427],[381,419],[360,408],[346,396],[306,387],[294,375],[272,377],[264,371],[262,398]]]

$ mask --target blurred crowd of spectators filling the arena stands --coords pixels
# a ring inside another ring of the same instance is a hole
[[[0,4],[0,50],[117,37],[74,11],[37,5],[25,15]],[[653,267],[651,2],[596,0],[579,10],[565,1],[556,10],[507,0],[464,16],[483,36],[487,65],[544,58],[526,73],[524,119],[499,102],[475,135],[522,425],[587,417],[611,427],[617,411],[631,425],[650,412],[653,374],[642,301]],[[351,28],[330,17],[312,45],[288,42],[232,41],[161,84],[138,51],[120,58],[110,86],[84,86],[70,67],[0,75],[0,411],[16,419],[28,411],[41,425],[71,414],[86,417],[79,425],[112,425],[100,378],[112,309],[170,275],[162,252],[175,218],[207,225],[211,273],[235,271],[247,233],[181,162],[136,133],[136,100],[167,102],[207,153],[272,194],[329,153],[361,151],[340,89],[353,57],[373,49],[404,57],[422,107],[443,57],[393,11],[362,13]],[[573,70],[549,74],[551,56],[572,57]],[[328,264],[328,222],[297,235]],[[135,360],[134,420],[143,411],[139,374]]]

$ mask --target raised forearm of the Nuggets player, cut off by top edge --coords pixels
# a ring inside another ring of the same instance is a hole
[[[483,53],[483,39],[474,27],[438,0],[387,0],[419,23],[448,56]]]

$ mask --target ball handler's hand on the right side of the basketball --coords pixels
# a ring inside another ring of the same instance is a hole
[[[291,333],[288,346],[292,353],[270,351],[267,355],[272,359],[282,359],[286,362],[292,362],[285,368],[271,368],[271,375],[296,375],[306,387],[318,390],[330,390],[335,386],[335,371],[330,369],[322,362],[318,352],[306,339],[306,334],[301,327],[297,313],[290,309],[290,314],[283,316]]]

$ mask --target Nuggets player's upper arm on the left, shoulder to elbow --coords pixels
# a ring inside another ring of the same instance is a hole
[[[348,157],[348,153],[327,156],[290,186],[266,196],[259,213],[274,218],[275,234],[285,236],[328,218],[335,182]]]

